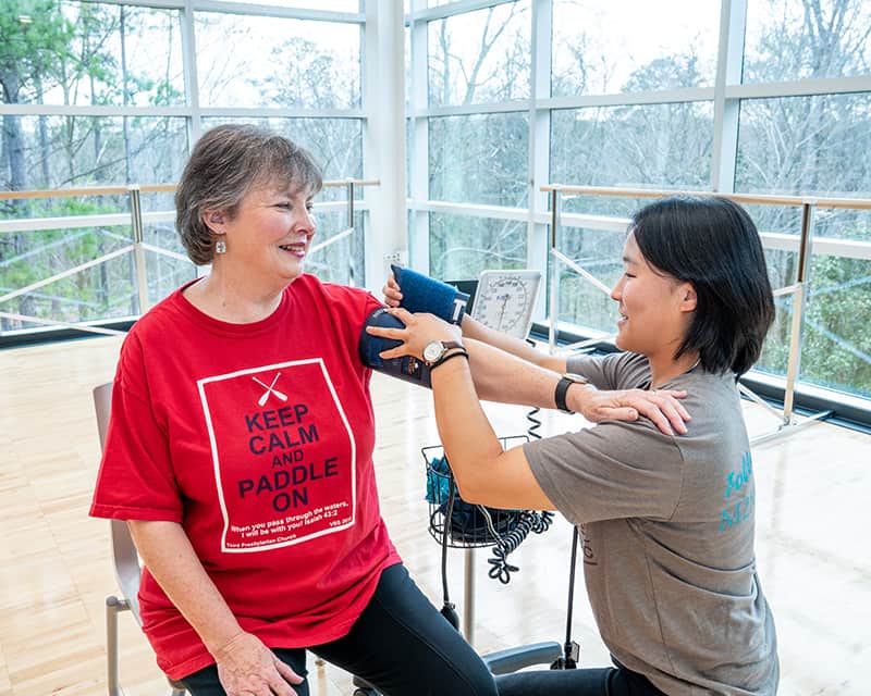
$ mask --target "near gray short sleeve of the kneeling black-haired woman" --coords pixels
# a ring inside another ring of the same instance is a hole
[[[541,489],[571,522],[670,519],[680,499],[683,458],[645,422],[605,421],[524,445]]]

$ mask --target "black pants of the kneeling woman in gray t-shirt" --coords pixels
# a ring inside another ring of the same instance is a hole
[[[499,696],[667,696],[643,674],[616,667],[536,670],[496,678]]]

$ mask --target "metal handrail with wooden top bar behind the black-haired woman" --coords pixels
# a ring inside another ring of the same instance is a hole
[[[591,273],[580,268],[579,264],[568,259],[565,254],[560,252],[556,248],[556,232],[560,228],[562,219],[562,196],[604,196],[604,197],[621,197],[621,198],[665,198],[668,196],[691,196],[691,197],[710,197],[710,198],[725,198],[738,203],[745,204],[763,204],[763,206],[785,206],[801,209],[801,228],[799,234],[798,245],[798,269],[796,272],[795,283],[774,290],[776,297],[786,295],[793,296],[793,325],[789,339],[789,357],[786,366],[786,384],[784,387],[784,406],[783,411],[778,411],[764,402],[764,400],[756,395],[746,385],[740,385],[740,390],[746,396],[751,398],[758,403],[765,403],[770,412],[775,413],[781,423],[777,427],[770,433],[765,433],[755,437],[752,443],[759,444],[775,437],[781,437],[794,432],[797,427],[808,425],[810,423],[824,420],[832,415],[831,410],[819,411],[802,419],[800,422],[795,413],[795,390],[798,381],[799,365],[801,362],[801,344],[803,339],[803,312],[805,302],[807,301],[808,289],[808,269],[810,268],[810,256],[813,240],[813,225],[814,213],[819,208],[826,209],[843,209],[843,210],[871,210],[871,200],[860,198],[821,198],[808,196],[769,196],[759,194],[721,194],[714,191],[692,191],[692,190],[666,190],[666,189],[647,189],[647,188],[613,188],[603,186],[563,186],[560,184],[548,184],[542,186],[541,190],[548,192],[551,199],[551,235],[550,235],[550,249],[549,249],[549,263],[548,263],[548,285],[550,289],[550,308],[549,308],[549,334],[548,343],[551,351],[556,350],[556,325],[559,322],[559,275],[556,273],[556,263],[561,262],[567,265],[575,273],[597,287],[599,290],[610,293],[610,289],[596,278]],[[581,345],[589,345],[601,340],[599,338],[582,341],[573,348]]]

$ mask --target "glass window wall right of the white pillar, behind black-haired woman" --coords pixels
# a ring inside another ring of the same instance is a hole
[[[407,26],[408,74],[427,76],[409,86],[409,247],[441,277],[518,268],[520,249],[544,270],[549,183],[871,198],[866,0],[415,0]],[[560,250],[610,285],[646,201],[561,202]],[[748,209],[772,283],[793,284],[800,210]],[[821,208],[813,223],[799,378],[869,397],[871,334],[855,320],[871,302],[871,213]],[[606,295],[559,275],[560,320],[611,333]],[[759,369],[783,376],[789,296],[777,306]]]

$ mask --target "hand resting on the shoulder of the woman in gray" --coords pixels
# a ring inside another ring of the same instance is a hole
[[[689,413],[680,405],[686,391],[677,389],[624,389],[599,391],[593,387],[568,389],[567,406],[591,423],[600,421],[637,421],[649,418],[666,435],[685,434]]]

